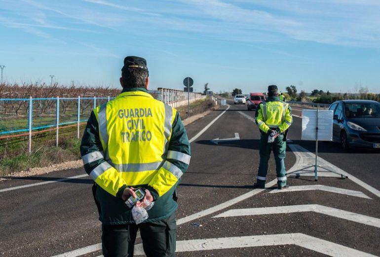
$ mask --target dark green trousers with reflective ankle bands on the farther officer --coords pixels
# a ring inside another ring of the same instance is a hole
[[[259,172],[257,174],[257,182],[264,183],[266,180],[266,173],[268,172],[268,161],[271,149],[273,148],[274,161],[276,162],[277,184],[281,186],[286,185],[285,175],[285,153],[286,142],[283,141],[284,135],[278,135],[273,143],[268,144],[268,135],[262,133],[260,139],[260,164]]]

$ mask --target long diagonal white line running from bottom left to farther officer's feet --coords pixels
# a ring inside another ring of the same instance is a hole
[[[277,182],[277,179],[273,179],[272,181],[266,183],[265,186],[267,188],[271,187],[274,184],[276,184],[276,182]],[[224,203],[218,204],[216,206],[213,206],[211,208],[208,208],[206,210],[203,210],[203,211],[191,214],[191,215],[189,215],[187,217],[184,217],[182,219],[177,220],[177,225],[181,225],[181,224],[184,224],[184,223],[187,223],[187,222],[190,222],[190,221],[202,218],[204,216],[213,214],[214,212],[223,210],[223,209],[225,209],[225,208],[227,208],[227,207],[229,207],[229,206],[231,206],[231,205],[233,205],[235,203],[238,203],[238,202],[240,202],[242,200],[245,200],[248,197],[251,197],[251,196],[253,196],[255,194],[258,194],[258,193],[260,193],[260,192],[262,192],[264,190],[265,189],[254,189],[254,190],[252,190],[252,191],[250,191],[248,193],[244,193],[244,194],[242,194],[242,195],[240,195],[238,197],[235,197],[235,198],[233,198],[231,200],[228,200],[227,202],[224,202]],[[137,247],[137,246],[135,246],[135,247]],[[141,247],[141,249],[143,249],[142,245],[140,247]],[[80,249],[77,249],[77,250],[74,250],[74,251],[71,251],[71,252],[67,252],[67,253],[64,253],[64,254],[56,255],[56,256],[53,256],[53,257],[77,257],[77,256],[89,254],[89,253],[92,253],[92,252],[95,252],[95,251],[99,251],[99,250],[102,250],[102,244],[95,244],[95,245],[83,247],[83,248],[80,248]]]

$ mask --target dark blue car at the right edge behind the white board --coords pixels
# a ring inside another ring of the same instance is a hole
[[[371,100],[340,100],[333,102],[333,141],[343,150],[350,147],[380,149],[380,103]]]

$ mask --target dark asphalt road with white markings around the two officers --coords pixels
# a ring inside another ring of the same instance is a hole
[[[289,177],[294,190],[289,192],[276,190],[271,158],[267,189],[253,190],[260,139],[255,112],[245,105],[231,104],[224,112],[226,108],[186,127],[193,139],[192,158],[178,187],[177,256],[380,255],[379,152],[344,153],[335,143],[321,143],[323,163],[349,178]],[[315,143],[301,141],[300,109],[293,114],[288,170],[309,164],[307,157],[315,150]],[[235,133],[239,140],[211,141],[234,138]],[[101,255],[91,179],[35,185],[83,174],[79,168],[0,182],[0,255]],[[28,185],[34,186],[14,188]],[[141,245],[136,249],[139,253]]]

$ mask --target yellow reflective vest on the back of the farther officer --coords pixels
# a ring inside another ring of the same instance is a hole
[[[285,112],[288,104],[283,101],[263,101],[264,122],[269,128],[278,128],[285,121]]]

